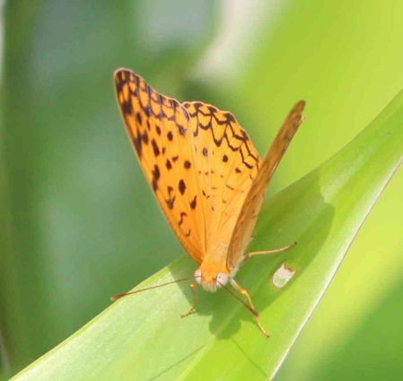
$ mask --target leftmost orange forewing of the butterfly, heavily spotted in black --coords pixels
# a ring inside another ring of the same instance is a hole
[[[130,142],[171,228],[197,263],[205,253],[205,217],[186,108],[160,95],[137,74],[115,75],[118,105]]]

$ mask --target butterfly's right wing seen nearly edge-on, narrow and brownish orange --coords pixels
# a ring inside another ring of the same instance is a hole
[[[229,269],[233,269],[238,265],[246,247],[250,243],[250,236],[255,227],[268,182],[273,177],[279,161],[283,158],[289,143],[293,139],[293,135],[302,123],[304,106],[305,101],[301,100],[293,107],[288,117],[286,117],[283,126],[276,135],[276,139],[271,144],[260,165],[256,178],[254,178],[250,186],[232,233],[227,256],[227,266]]]

